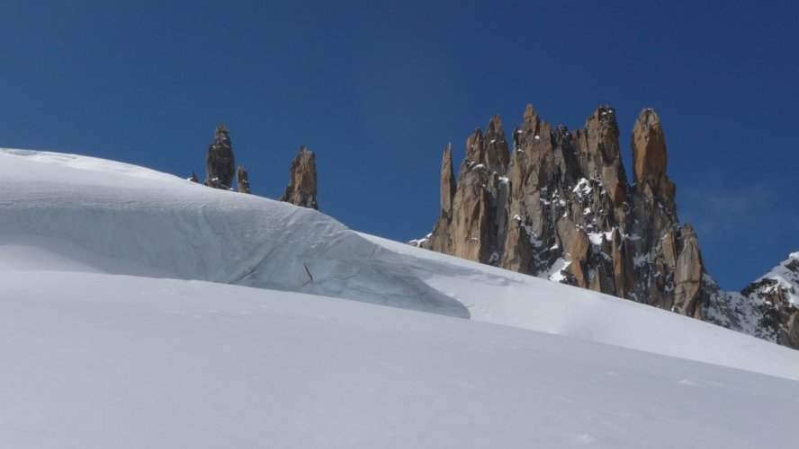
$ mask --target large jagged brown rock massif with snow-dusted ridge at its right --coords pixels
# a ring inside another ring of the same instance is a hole
[[[484,134],[478,128],[466,139],[457,178],[452,146],[444,148],[440,216],[432,233],[411,244],[761,338],[768,333],[797,348],[795,313],[759,312],[770,307],[767,302],[786,304],[785,295],[758,303],[722,292],[707,275],[696,232],[678,220],[666,138],[655,110],[641,111],[631,147],[632,184],[609,106],[570,131],[553,127],[528,105],[510,141],[494,116]]]

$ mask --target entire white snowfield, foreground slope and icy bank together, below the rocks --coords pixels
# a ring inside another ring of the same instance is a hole
[[[792,446],[760,339],[124,163],[0,192],[2,447]]]

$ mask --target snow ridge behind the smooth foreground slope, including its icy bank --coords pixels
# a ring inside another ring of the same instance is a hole
[[[0,191],[0,269],[199,279],[334,296],[799,379],[799,353],[790,349],[136,166],[0,150]]]

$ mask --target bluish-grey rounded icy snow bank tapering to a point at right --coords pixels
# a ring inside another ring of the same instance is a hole
[[[76,262],[95,270],[108,272],[111,259],[136,267],[128,274],[149,270],[469,316],[408,269],[371,260],[376,245],[310,209],[132,165],[17,150],[0,150],[0,191],[3,242],[76,245],[84,250]]]

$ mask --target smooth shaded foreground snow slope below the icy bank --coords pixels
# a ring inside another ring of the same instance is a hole
[[[0,447],[794,447],[799,383],[328,297],[0,271]]]

